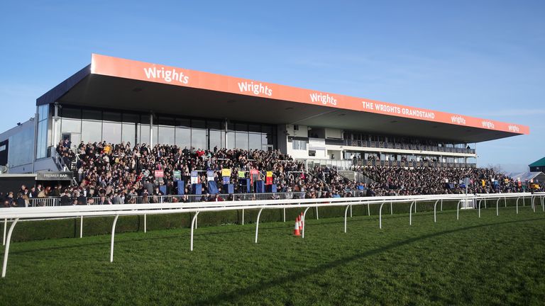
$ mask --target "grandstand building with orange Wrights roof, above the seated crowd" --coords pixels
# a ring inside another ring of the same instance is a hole
[[[0,164],[11,173],[60,171],[55,146],[70,140],[280,149],[339,169],[356,160],[474,167],[476,143],[528,133],[524,125],[92,55],[36,100],[35,118],[0,135]]]

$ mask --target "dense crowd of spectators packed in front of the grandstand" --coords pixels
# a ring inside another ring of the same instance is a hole
[[[73,149],[75,148],[75,149]],[[492,169],[453,169],[422,167],[362,166],[353,168],[373,180],[373,183],[358,183],[341,176],[334,167],[314,166],[305,169],[302,162],[280,151],[243,149],[194,149],[175,145],[131,145],[106,142],[80,143],[72,147],[70,141],[60,142],[56,148],[62,164],[75,173],[77,184],[72,186],[21,186],[18,193],[0,193],[4,207],[27,206],[31,198],[60,198],[61,205],[158,203],[159,197],[177,195],[174,171],[180,171],[185,182],[184,194],[191,193],[191,173],[198,171],[202,183],[199,200],[224,200],[222,169],[230,169],[230,181],[234,195],[227,200],[238,200],[246,186],[238,179],[251,176],[250,171],[259,171],[259,179],[272,172],[272,182],[280,193],[304,194],[306,198],[334,198],[350,196],[407,196],[441,193],[466,193],[463,179],[469,178],[468,193],[521,192],[522,186],[513,179],[496,173]],[[163,171],[156,178],[154,171]],[[214,172],[213,181],[217,191],[209,191],[207,171]],[[484,184],[483,184],[484,182]],[[160,186],[163,186],[160,188]],[[543,184],[535,191],[544,191]],[[273,196],[274,198],[275,196]],[[171,198],[171,201],[187,202],[187,196]]]

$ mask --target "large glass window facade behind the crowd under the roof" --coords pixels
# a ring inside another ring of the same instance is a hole
[[[123,113],[64,106],[60,109],[60,117],[60,139],[70,137],[73,145],[77,145],[80,140],[131,142],[132,145],[150,142],[149,113]],[[273,125],[229,123],[227,128],[229,149],[276,147],[276,128]],[[154,115],[152,133],[154,144],[195,149],[226,147],[225,123],[222,120]]]

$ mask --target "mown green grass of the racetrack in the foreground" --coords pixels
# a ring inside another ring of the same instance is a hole
[[[200,216],[199,216],[200,217]],[[0,305],[543,305],[545,214],[528,206],[14,242]],[[17,227],[16,229],[17,230]]]

